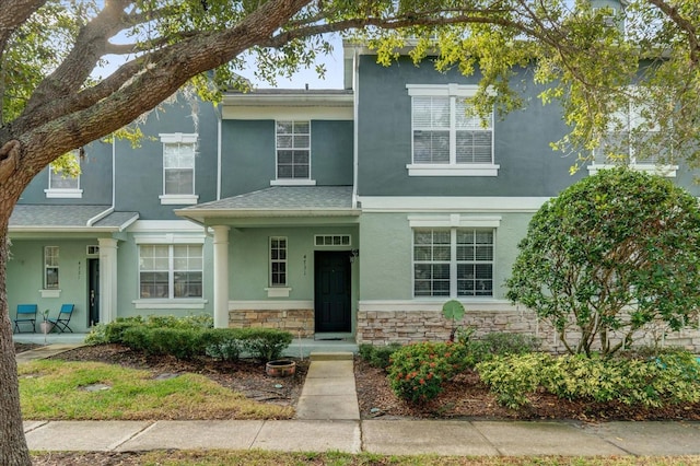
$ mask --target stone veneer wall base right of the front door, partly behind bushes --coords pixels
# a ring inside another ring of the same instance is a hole
[[[506,331],[535,335],[541,339],[541,349],[556,353],[565,352],[564,346],[551,326],[538,322],[532,311],[467,311],[465,318],[458,323],[475,328],[478,338],[489,333]],[[665,331],[663,325],[650,326],[646,331],[639,333],[643,337],[640,345],[679,346],[700,353],[700,331]],[[357,342],[387,345],[390,342],[408,343],[412,341],[447,340],[451,323],[442,312],[436,311],[358,311]],[[575,335],[567,335],[571,343]],[[612,341],[615,342],[615,340]]]

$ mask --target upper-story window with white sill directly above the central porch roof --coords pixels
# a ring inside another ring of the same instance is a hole
[[[272,185],[314,185],[311,179],[311,121],[276,123],[277,179]]]

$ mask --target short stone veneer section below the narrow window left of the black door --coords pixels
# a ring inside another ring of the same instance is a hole
[[[230,311],[229,327],[277,328],[294,337],[308,338],[314,335],[314,310]]]

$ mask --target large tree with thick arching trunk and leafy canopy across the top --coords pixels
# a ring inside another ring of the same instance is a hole
[[[323,34],[353,32],[385,63],[410,45],[417,62],[430,56],[440,70],[479,72],[483,114],[525,105],[512,70],[533,66],[541,98],[558,101],[571,125],[556,143],[567,153],[590,155],[623,125],[616,110],[635,106],[654,121],[639,131],[648,137],[632,138],[635,153],[698,164],[696,1],[625,3],[622,30],[610,26],[609,9],[584,0],[0,0],[0,462],[28,464],[7,308],[8,222],[49,163],[188,82],[215,98],[244,89],[248,68],[270,82],[300,67],[323,74]],[[104,68],[114,57],[118,65]]]

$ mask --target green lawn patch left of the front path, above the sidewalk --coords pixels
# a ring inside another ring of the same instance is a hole
[[[197,374],[154,380],[148,371],[100,362],[40,360],[20,364],[24,419],[289,419],[293,409],[247,399]],[[109,389],[89,392],[104,384]]]

